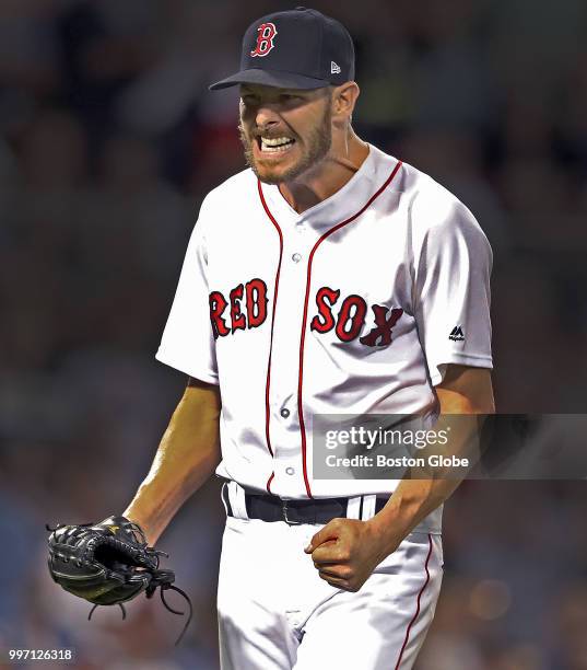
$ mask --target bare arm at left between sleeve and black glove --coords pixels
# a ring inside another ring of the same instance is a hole
[[[141,525],[151,545],[220,463],[219,415],[213,391],[186,389],[149,474],[124,512]]]

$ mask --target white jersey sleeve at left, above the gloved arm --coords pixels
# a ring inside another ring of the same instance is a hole
[[[206,200],[191,233],[173,305],[155,358],[190,377],[218,384],[207,279]]]

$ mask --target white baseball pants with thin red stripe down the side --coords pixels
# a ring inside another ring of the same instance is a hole
[[[412,532],[356,593],[304,553],[320,525],[227,517],[218,609],[222,670],[408,670],[434,610],[442,538]]]

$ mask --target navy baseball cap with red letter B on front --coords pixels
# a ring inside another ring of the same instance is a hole
[[[320,12],[297,7],[267,14],[243,37],[240,70],[211,91],[242,83],[320,89],[354,79],[354,47],[347,28]]]

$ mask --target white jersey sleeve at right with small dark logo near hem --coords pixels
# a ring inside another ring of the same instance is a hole
[[[421,194],[423,195],[423,194]],[[431,198],[418,211],[413,307],[433,385],[447,363],[492,368],[492,251],[473,215],[456,198]]]

